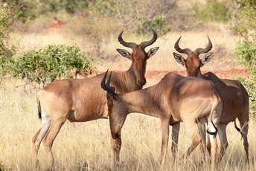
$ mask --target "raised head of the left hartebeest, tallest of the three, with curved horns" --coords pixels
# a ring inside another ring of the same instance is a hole
[[[146,84],[145,72],[147,59],[150,59],[150,57],[156,54],[156,51],[159,50],[159,47],[156,47],[150,48],[150,51],[148,51],[147,53],[145,51],[145,48],[147,46],[152,45],[154,42],[156,42],[157,34],[153,29],[152,31],[153,38],[150,41],[141,42],[139,45],[135,44],[134,42],[124,42],[124,39],[122,38],[122,34],[124,31],[122,31],[118,36],[118,41],[121,43],[121,45],[124,45],[127,48],[132,48],[132,54],[129,54],[129,52],[124,49],[117,49],[117,51],[123,57],[128,58],[132,61],[132,69],[137,79],[136,83],[138,84],[138,86],[144,86]]]

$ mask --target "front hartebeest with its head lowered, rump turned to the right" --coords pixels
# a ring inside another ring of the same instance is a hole
[[[164,167],[167,154],[169,125],[183,122],[191,132],[192,143],[185,155],[202,140],[196,123],[208,122],[208,133],[211,140],[211,169],[214,170],[217,152],[217,127],[222,111],[220,95],[211,81],[196,77],[182,77],[175,73],[166,74],[155,86],[132,91],[125,94],[115,94],[115,86],[109,86],[111,74],[106,83],[106,75],[101,82],[101,88],[107,91],[109,107],[109,123],[112,138],[121,138],[121,129],[129,113],[138,112],[161,120],[161,167]]]

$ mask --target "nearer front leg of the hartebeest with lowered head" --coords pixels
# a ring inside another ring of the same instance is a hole
[[[164,168],[165,158],[167,154],[167,146],[168,146],[168,139],[169,139],[169,125],[170,119],[161,120],[161,168]]]

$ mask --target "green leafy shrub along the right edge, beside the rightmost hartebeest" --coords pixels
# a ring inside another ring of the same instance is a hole
[[[239,34],[242,39],[237,42],[234,52],[237,61],[249,68],[249,80],[240,79],[240,81],[246,86],[252,100],[250,109],[256,111],[256,1],[240,0],[236,2],[237,11],[231,19],[231,30]]]

